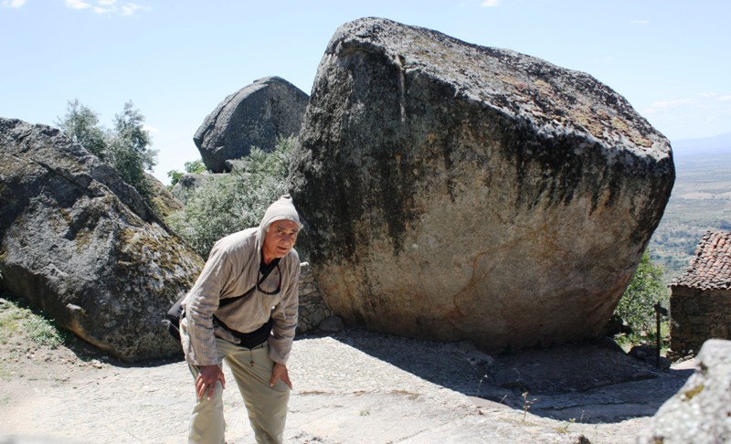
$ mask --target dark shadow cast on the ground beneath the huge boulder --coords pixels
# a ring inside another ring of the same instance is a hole
[[[650,417],[693,374],[656,369],[609,340],[491,356],[469,342],[445,344],[357,329],[330,336],[471,396],[475,404],[494,401],[541,417],[589,424]]]

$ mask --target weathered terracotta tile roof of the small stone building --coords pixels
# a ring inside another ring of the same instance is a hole
[[[731,232],[706,232],[695,249],[690,267],[672,285],[731,290]]]

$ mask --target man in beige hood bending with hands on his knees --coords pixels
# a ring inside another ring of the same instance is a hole
[[[301,228],[291,197],[282,196],[259,227],[217,241],[185,296],[181,342],[197,396],[189,442],[225,442],[223,361],[257,442],[281,442],[291,390],[286,364],[297,326],[300,259],[293,247]]]

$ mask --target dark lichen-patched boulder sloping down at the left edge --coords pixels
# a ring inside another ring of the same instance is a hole
[[[58,130],[0,119],[0,286],[127,361],[179,353],[162,320],[202,259]]]

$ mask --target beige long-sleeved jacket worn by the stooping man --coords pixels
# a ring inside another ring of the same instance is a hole
[[[184,323],[187,334],[181,335],[185,359],[193,365],[217,365],[216,336],[238,344],[232,334],[222,327],[214,327],[213,315],[228,327],[249,333],[273,319],[269,338],[270,358],[286,364],[297,327],[300,258],[292,249],[280,260],[281,291],[267,295],[260,291],[241,301],[218,307],[218,301],[244,294],[256,285],[259,278],[261,246],[264,232],[271,221],[262,221],[256,228],[248,228],[220,239],[211,249],[206,266],[196,284],[185,296]]]

